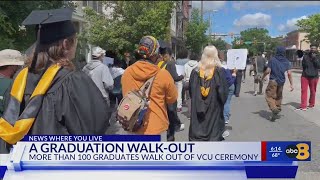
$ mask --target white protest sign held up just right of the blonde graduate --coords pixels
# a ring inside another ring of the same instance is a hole
[[[229,49],[227,52],[228,69],[245,69],[247,64],[247,55],[247,49]]]

